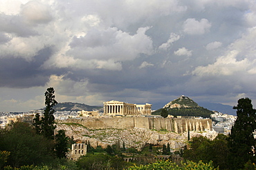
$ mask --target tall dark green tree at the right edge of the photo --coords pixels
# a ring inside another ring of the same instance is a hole
[[[232,169],[240,169],[249,160],[256,162],[254,156],[256,140],[253,136],[256,129],[256,110],[253,109],[249,98],[240,98],[233,109],[237,109],[237,120],[228,137],[229,160]]]

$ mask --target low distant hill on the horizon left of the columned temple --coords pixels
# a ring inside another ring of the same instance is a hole
[[[55,109],[55,111],[80,111],[80,110],[92,111],[93,109],[103,111],[103,107],[100,107],[100,106],[90,106],[90,105],[85,105],[81,103],[71,103],[71,102],[58,103],[53,108]]]

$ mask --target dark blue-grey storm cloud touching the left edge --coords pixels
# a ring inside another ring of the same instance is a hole
[[[51,73],[40,67],[50,56],[51,48],[46,47],[31,62],[12,57],[0,59],[0,87],[27,88],[46,85]]]

